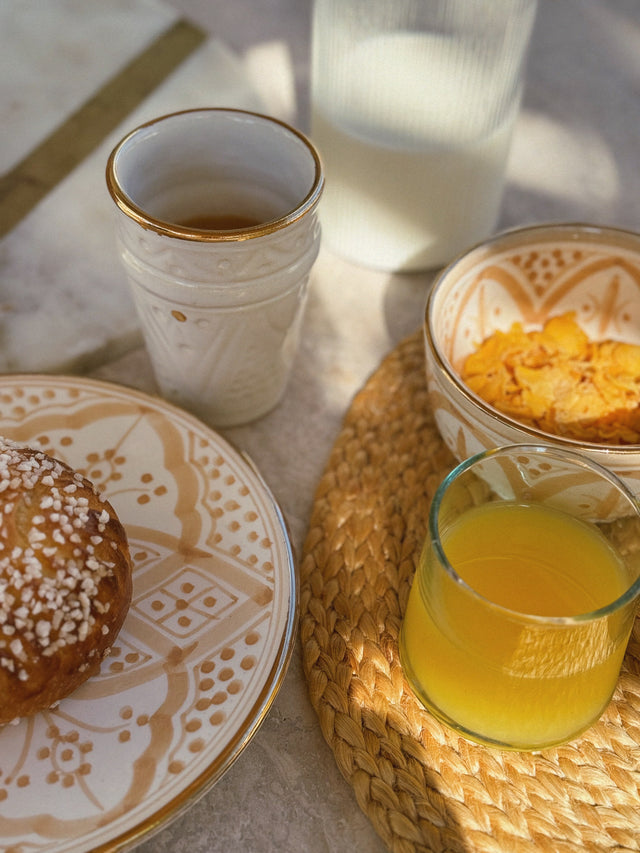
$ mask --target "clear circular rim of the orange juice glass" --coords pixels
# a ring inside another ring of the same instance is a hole
[[[429,509],[429,538],[426,544],[431,545],[433,547],[437,555],[438,562],[445,570],[445,572],[449,575],[449,577],[460,588],[464,589],[468,594],[470,594],[475,600],[477,600],[478,602],[482,602],[483,605],[486,605],[495,612],[502,614],[504,617],[509,617],[520,622],[528,622],[536,625],[549,625],[557,627],[582,625],[589,622],[595,622],[599,619],[609,616],[611,613],[615,613],[616,611],[625,607],[627,604],[630,604],[640,594],[640,572],[638,572],[638,577],[636,577],[635,581],[633,581],[633,583],[631,583],[626,588],[626,590],[613,601],[609,602],[608,604],[605,604],[602,607],[596,608],[595,610],[589,610],[585,613],[578,613],[574,616],[540,616],[535,613],[525,613],[520,610],[514,610],[512,608],[505,607],[501,604],[497,604],[490,598],[481,595],[470,584],[468,584],[463,578],[460,577],[460,575],[456,572],[454,567],[449,562],[440,539],[440,533],[438,530],[440,506],[442,504],[445,493],[447,492],[451,484],[454,482],[454,480],[456,480],[461,474],[463,474],[465,471],[468,471],[470,468],[474,467],[484,459],[490,459],[494,456],[504,454],[505,451],[520,452],[523,454],[533,453],[540,456],[554,457],[556,459],[568,460],[573,464],[577,465],[578,467],[589,469],[593,473],[602,477],[603,479],[608,480],[608,482],[627,499],[633,509],[633,512],[635,513],[635,516],[640,518],[640,501],[638,501],[633,492],[631,492],[631,490],[620,479],[620,477],[618,477],[612,471],[609,471],[603,465],[600,465],[598,462],[595,462],[594,460],[589,459],[576,451],[567,450],[565,448],[556,448],[551,445],[538,444],[506,444],[501,445],[499,447],[493,447],[488,450],[483,450],[458,463],[447,474],[447,476],[444,478],[444,480],[442,480],[442,482],[436,489],[436,492],[433,496],[433,500],[431,502],[431,507]],[[419,568],[418,571],[420,571]]]

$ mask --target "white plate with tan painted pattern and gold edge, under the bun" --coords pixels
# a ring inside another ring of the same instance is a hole
[[[90,477],[134,563],[100,674],[0,731],[0,849],[128,849],[220,778],[275,698],[297,613],[286,528],[247,459],[124,387],[5,376],[0,433]]]

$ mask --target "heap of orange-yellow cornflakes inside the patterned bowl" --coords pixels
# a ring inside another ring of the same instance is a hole
[[[465,361],[463,381],[503,414],[544,432],[640,444],[640,346],[592,341],[574,312],[540,330],[514,323]]]

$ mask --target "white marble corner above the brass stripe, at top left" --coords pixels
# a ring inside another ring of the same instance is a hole
[[[0,105],[10,132],[0,169],[24,157],[178,16],[155,0],[2,0]]]

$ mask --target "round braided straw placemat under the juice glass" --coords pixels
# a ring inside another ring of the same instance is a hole
[[[337,765],[394,853],[638,851],[638,621],[601,720],[537,754],[458,737],[403,679],[401,616],[431,497],[453,464],[429,410],[416,333],[354,398],[304,546],[303,665]]]

